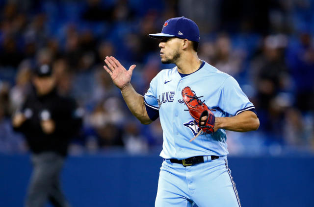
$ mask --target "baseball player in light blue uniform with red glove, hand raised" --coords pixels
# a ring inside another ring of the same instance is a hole
[[[106,57],[104,68],[141,123],[160,117],[164,161],[155,206],[239,207],[225,130],[257,130],[254,105],[232,76],[198,58],[200,34],[192,20],[169,19],[161,33],[149,36],[161,39],[161,62],[176,67],[161,70],[144,96],[130,83],[135,65],[126,70]]]

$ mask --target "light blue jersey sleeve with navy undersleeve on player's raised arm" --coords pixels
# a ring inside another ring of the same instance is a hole
[[[157,100],[157,77],[153,78],[149,89],[144,94],[144,103],[148,116],[152,121],[159,117],[159,106]]]

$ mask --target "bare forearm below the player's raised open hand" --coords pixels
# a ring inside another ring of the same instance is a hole
[[[142,124],[150,124],[153,121],[149,118],[144,97],[138,94],[131,84],[126,85],[121,89],[122,96],[127,103],[131,113],[138,119]]]

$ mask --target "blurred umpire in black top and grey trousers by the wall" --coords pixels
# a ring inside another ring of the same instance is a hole
[[[22,132],[32,152],[33,172],[26,207],[70,207],[60,187],[60,173],[70,139],[78,133],[82,118],[76,103],[58,94],[52,68],[42,65],[32,79],[33,92],[13,115],[14,130]]]

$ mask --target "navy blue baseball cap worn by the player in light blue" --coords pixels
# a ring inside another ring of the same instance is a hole
[[[190,41],[200,41],[200,30],[195,22],[185,17],[176,17],[167,20],[162,27],[161,33],[149,34],[148,36],[155,39],[163,37],[177,37],[188,39]]]

